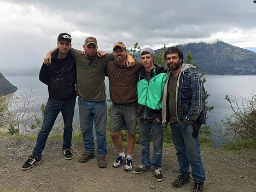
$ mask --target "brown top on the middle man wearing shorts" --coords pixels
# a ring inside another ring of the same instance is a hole
[[[110,99],[113,103],[125,104],[137,101],[137,73],[142,63],[135,61],[135,66],[121,66],[115,61],[107,65]]]

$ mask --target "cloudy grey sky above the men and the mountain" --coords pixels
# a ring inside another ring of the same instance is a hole
[[[0,0],[0,72],[38,74],[61,32],[71,34],[76,49],[88,36],[105,51],[117,41],[127,48],[136,42],[159,49],[216,39],[256,47],[255,18],[253,0]]]

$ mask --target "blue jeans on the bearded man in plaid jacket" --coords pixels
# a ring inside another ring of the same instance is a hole
[[[205,182],[205,169],[200,155],[199,136],[192,136],[193,125],[186,124],[182,127],[178,123],[171,123],[172,142],[177,151],[179,172],[189,177],[189,165],[192,177],[199,182]]]

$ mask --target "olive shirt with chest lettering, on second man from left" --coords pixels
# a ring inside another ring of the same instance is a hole
[[[77,63],[78,95],[88,101],[106,100],[105,68],[114,59],[112,54],[89,59],[79,50],[71,49],[71,55]]]

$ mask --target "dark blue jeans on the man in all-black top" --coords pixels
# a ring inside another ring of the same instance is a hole
[[[63,132],[63,147],[70,148],[72,141],[72,123],[74,116],[75,99],[71,101],[49,101],[44,109],[44,120],[40,132],[37,136],[37,144],[33,150],[33,155],[42,157],[42,152],[45,148],[45,144],[48,135],[53,128],[55,120],[61,112],[64,122]]]

